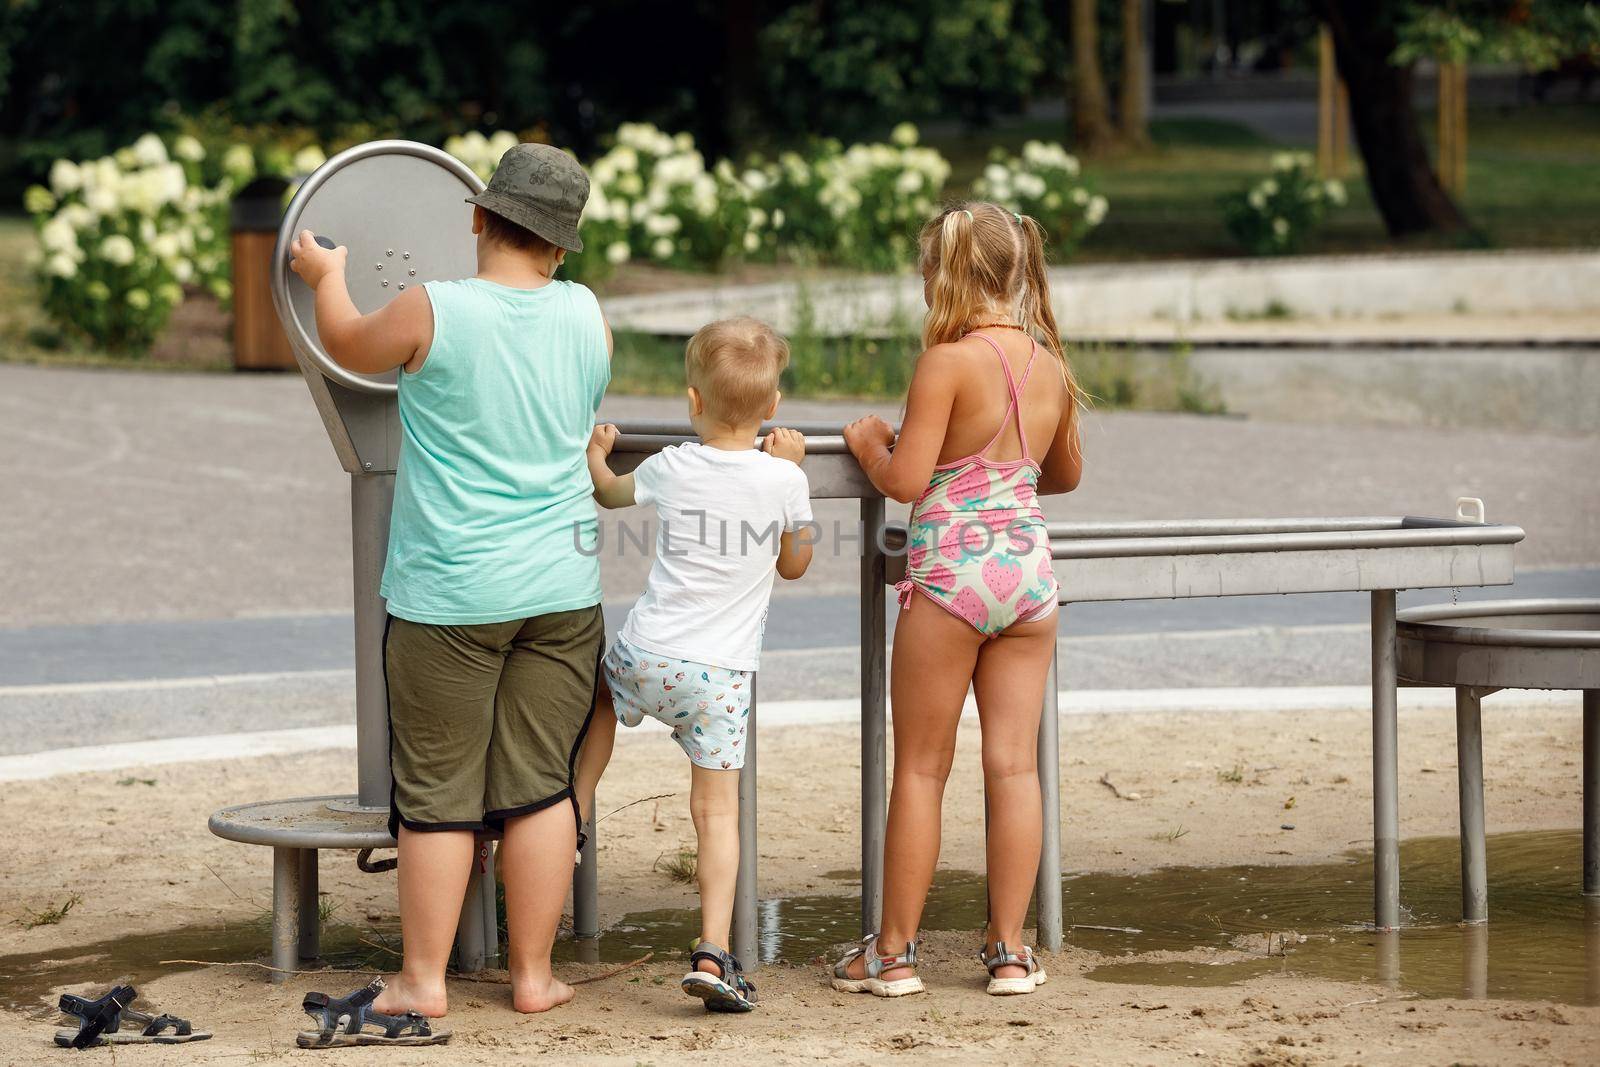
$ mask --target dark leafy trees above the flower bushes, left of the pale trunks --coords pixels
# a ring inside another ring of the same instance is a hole
[[[619,122],[710,152],[984,122],[1062,77],[1050,0],[0,0],[0,171],[184,117],[440,138]]]

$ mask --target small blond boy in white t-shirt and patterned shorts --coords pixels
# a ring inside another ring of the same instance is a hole
[[[773,430],[778,376],[789,344],[754,318],[704,326],[688,344],[690,422],[698,445],[674,445],[634,474],[614,475],[606,456],[616,427],[595,427],[589,474],[602,507],[654,504],[656,560],[645,595],[603,672],[614,718],[595,715],[578,766],[578,792],[592,805],[611,757],[616,721],[645,717],[672,728],[688,755],[690,814],[699,843],[701,941],[683,992],[710,1011],[750,1011],[755,987],[726,952],[739,869],[739,768],[750,688],[766,627],[773,573],[786,579],[811,565],[811,499],[800,461],[805,438]]]

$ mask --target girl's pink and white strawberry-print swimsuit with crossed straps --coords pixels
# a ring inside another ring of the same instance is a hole
[[[987,445],[933,469],[928,488],[910,509],[906,577],[894,589],[901,609],[910,606],[912,592],[922,592],[984,637],[995,637],[1013,622],[1040,619],[1056,606],[1056,571],[1038,507],[1038,464],[1027,451],[1021,408],[1038,342],[1018,381],[992,338],[968,336],[982,338],[995,350],[1011,403]],[[987,459],[1013,416],[1022,458]]]

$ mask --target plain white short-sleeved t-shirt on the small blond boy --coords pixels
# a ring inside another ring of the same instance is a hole
[[[634,470],[656,506],[656,560],[622,640],[659,656],[755,670],[778,541],[811,522],[805,474],[755,448],[664,448]]]

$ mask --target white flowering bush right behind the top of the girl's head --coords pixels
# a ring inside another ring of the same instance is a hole
[[[1050,251],[1066,259],[1106,219],[1106,197],[1080,178],[1078,160],[1059,144],[1029,141],[1021,155],[997,149],[973,192],[1045,227]]]

